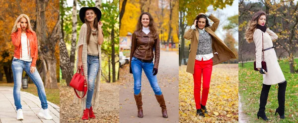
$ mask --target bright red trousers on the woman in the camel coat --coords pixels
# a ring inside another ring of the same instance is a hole
[[[212,59],[207,61],[195,61],[194,68],[194,97],[196,102],[196,109],[201,109],[201,104],[206,106],[209,87],[210,87],[210,79],[212,73],[213,61]],[[202,91],[202,100],[201,100],[201,85],[202,85],[202,76],[203,76],[203,91]]]

